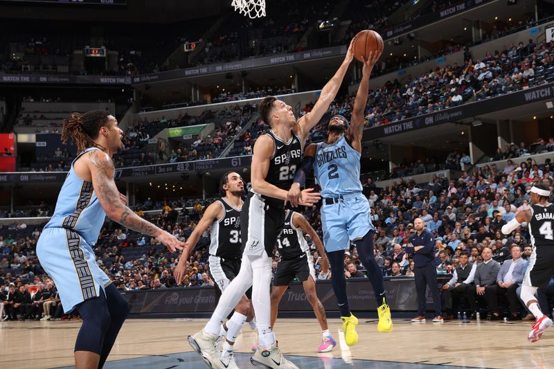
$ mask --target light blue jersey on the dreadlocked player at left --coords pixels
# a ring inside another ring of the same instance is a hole
[[[80,153],[73,163],[83,154],[91,150],[100,150],[98,147],[89,147]],[[56,208],[50,222],[44,228],[61,227],[71,229],[78,233],[87,244],[94,246],[98,240],[100,229],[106,217],[106,213],[96,193],[92,188],[92,182],[80,179],[71,163],[71,169],[57,197]]]

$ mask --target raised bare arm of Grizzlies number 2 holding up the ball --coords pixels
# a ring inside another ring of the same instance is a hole
[[[373,66],[375,66],[380,56],[380,53],[370,51],[368,60],[364,60],[364,67],[361,69],[361,81],[359,82],[354,107],[352,108],[352,121],[350,122],[350,127],[348,127],[348,132],[346,132],[346,136],[351,143],[356,145],[359,143],[359,147],[355,147],[355,149],[360,151],[361,136],[364,133],[364,123],[366,120],[364,111],[366,111],[366,104],[368,102],[369,78],[371,71],[373,71]]]

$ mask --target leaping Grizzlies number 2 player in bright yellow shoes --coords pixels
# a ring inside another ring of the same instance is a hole
[[[373,233],[368,200],[361,194],[359,180],[361,136],[364,131],[364,109],[368,100],[369,77],[379,54],[370,53],[364,62],[363,77],[352,109],[352,124],[343,116],[333,116],[325,142],[307,147],[300,170],[296,171],[295,190],[300,190],[312,165],[321,186],[321,224],[323,244],[331,264],[332,286],[339,302],[347,345],[355,345],[357,318],[350,312],[344,276],[344,251],[350,242],[356,245],[359,258],[368,271],[377,299],[379,332],[393,329],[391,312],[386,305],[382,271],[373,258]]]

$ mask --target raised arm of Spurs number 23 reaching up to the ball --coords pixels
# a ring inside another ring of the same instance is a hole
[[[310,134],[310,130],[319,122],[327,109],[329,109],[329,105],[331,105],[334,97],[337,96],[337,92],[339,92],[339,88],[341,87],[344,75],[346,74],[348,66],[350,66],[350,62],[352,62],[352,58],[354,57],[354,51],[352,51],[353,43],[354,39],[352,39],[352,42],[350,42],[350,46],[348,46],[346,57],[344,58],[341,66],[339,67],[337,72],[334,73],[329,82],[325,84],[323,89],[321,89],[319,99],[317,99],[317,102],[312,108],[312,111],[310,111],[310,113],[306,114],[302,118],[298,119],[296,132],[303,142],[307,138],[308,134]]]

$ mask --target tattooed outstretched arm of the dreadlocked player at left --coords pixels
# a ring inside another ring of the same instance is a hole
[[[91,150],[88,159],[87,165],[91,171],[92,186],[98,201],[100,201],[100,206],[102,206],[109,219],[133,231],[157,237],[171,252],[183,248],[183,242],[139,217],[133,210],[123,204],[114,182],[114,161],[111,160],[108,154],[100,150]]]

